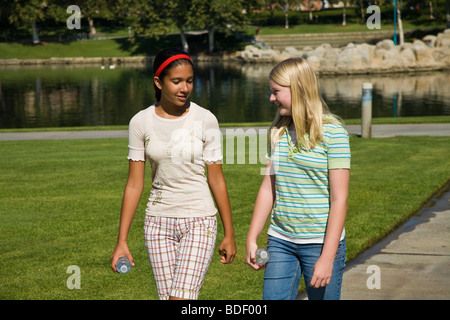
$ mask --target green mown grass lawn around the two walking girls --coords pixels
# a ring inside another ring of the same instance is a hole
[[[448,144],[447,137],[351,137],[349,259],[448,183]],[[127,152],[126,139],[0,142],[0,299],[157,299],[143,241],[150,172],[129,236],[136,266],[126,275],[109,267]],[[224,164],[238,255],[228,266],[214,256],[200,299],[261,298],[263,273],[244,256],[262,167]],[[218,242],[221,234],[220,225]],[[79,290],[66,286],[71,265],[81,270]]]

